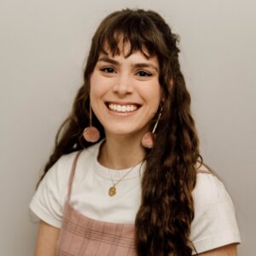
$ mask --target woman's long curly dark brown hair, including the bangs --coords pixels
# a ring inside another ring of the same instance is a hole
[[[75,97],[72,113],[57,133],[54,152],[38,183],[62,154],[92,144],[84,141],[82,136],[84,127],[89,125],[90,75],[99,54],[107,52],[106,44],[113,55],[119,55],[120,38],[123,44],[130,45],[128,55],[139,50],[148,57],[157,56],[164,96],[154,147],[147,150],[145,157],[141,206],[135,221],[137,254],[191,255],[195,249],[189,233],[195,214],[192,197],[195,166],[201,160],[199,140],[190,113],[189,92],[178,61],[178,37],[154,11],[124,9],[102,20],[92,38],[84,84]],[[101,138],[105,137],[104,128],[95,115],[93,120]]]

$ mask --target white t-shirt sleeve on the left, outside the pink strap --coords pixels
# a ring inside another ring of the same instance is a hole
[[[62,156],[44,176],[30,203],[30,210],[47,224],[61,228],[72,157]]]

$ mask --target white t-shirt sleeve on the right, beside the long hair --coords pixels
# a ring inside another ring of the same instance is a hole
[[[197,177],[195,218],[190,233],[196,253],[240,243],[235,208],[224,184],[212,174],[197,174]]]

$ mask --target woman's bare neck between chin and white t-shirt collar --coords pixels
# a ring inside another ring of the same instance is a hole
[[[139,164],[145,157],[145,150],[140,138],[108,136],[102,143],[98,155],[98,161],[102,166],[110,169],[121,170]]]

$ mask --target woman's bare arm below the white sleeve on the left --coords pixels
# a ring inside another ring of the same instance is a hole
[[[56,244],[60,229],[55,228],[41,220],[38,228],[38,240],[35,256],[55,256]]]

